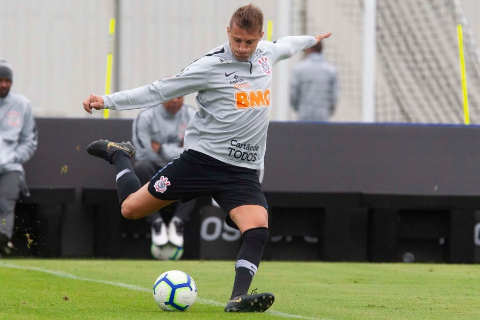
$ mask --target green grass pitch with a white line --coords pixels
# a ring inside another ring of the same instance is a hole
[[[198,287],[186,312],[161,311],[152,296],[171,269]],[[223,311],[233,261],[0,260],[0,319],[479,319],[477,265],[261,263],[251,288],[275,294],[265,313]]]

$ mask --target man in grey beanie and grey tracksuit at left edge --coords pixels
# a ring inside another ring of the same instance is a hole
[[[37,126],[30,101],[11,92],[12,66],[0,58],[0,255],[8,254],[20,192],[28,196],[22,164],[37,150]]]

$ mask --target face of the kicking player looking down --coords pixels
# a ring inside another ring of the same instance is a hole
[[[255,52],[258,42],[263,37],[263,31],[248,32],[237,27],[235,23],[233,23],[232,29],[230,26],[226,27],[226,32],[229,35],[230,50],[238,61],[247,61],[248,57]]]

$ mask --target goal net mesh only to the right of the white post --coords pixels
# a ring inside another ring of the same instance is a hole
[[[385,79],[377,91],[378,121],[464,122],[459,9],[445,0],[378,2],[377,52]],[[479,122],[476,45],[463,22],[470,119]]]

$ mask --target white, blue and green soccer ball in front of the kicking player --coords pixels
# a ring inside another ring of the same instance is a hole
[[[197,298],[193,279],[180,270],[170,270],[160,275],[154,283],[154,299],[164,311],[186,311]]]

